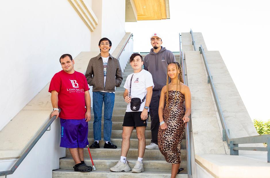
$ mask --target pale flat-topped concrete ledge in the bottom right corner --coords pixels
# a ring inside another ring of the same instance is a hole
[[[261,157],[258,155],[245,157],[227,154],[196,154],[195,161],[217,178],[269,178],[270,163],[262,160]]]

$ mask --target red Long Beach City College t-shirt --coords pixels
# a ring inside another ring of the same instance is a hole
[[[61,70],[56,73],[50,83],[49,92],[58,92],[58,107],[61,108],[61,119],[84,119],[85,99],[84,92],[89,90],[84,74],[72,74]]]

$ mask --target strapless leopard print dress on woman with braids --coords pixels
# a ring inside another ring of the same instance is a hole
[[[159,150],[164,155],[166,161],[171,164],[180,164],[181,162],[180,149],[185,132],[185,124],[182,120],[185,115],[184,106],[184,94],[175,90],[169,91],[168,105],[166,105],[163,110],[163,119],[168,128],[162,130],[159,126],[158,145]]]

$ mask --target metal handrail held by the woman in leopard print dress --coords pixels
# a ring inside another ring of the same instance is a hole
[[[185,70],[184,70],[184,55],[183,55],[183,49],[182,49],[182,36],[179,33],[179,46],[180,46],[180,65],[182,67],[182,77],[184,80],[184,84],[186,85],[185,80]],[[191,150],[190,150],[190,136],[189,136],[189,122],[185,123],[185,130],[186,130],[186,151],[187,151],[187,169],[188,169],[188,178],[192,177],[192,171],[191,171]]]

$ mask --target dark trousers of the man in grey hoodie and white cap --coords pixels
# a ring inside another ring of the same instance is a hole
[[[149,113],[151,116],[151,143],[157,144],[157,134],[159,131],[159,98],[161,90],[153,90]]]

